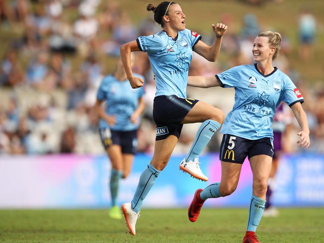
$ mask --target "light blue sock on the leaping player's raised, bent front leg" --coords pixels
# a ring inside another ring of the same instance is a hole
[[[194,161],[195,158],[199,157],[220,126],[221,124],[214,120],[206,120],[201,124],[186,161]]]

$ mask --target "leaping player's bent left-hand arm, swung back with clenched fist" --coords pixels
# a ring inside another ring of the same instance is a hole
[[[136,40],[130,41],[126,44],[120,46],[120,58],[123,63],[127,79],[129,80],[130,85],[133,89],[142,87],[144,81],[138,77],[133,76],[131,61],[130,61],[130,53],[132,51],[140,51]]]

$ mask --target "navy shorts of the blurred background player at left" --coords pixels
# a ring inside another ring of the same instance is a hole
[[[137,149],[137,130],[132,131],[113,131],[107,128],[99,128],[101,143],[107,149],[115,144],[121,147],[123,154],[136,154]]]

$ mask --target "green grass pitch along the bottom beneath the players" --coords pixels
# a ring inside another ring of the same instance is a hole
[[[107,210],[0,210],[0,242],[5,243],[239,243],[247,209],[203,209],[196,223],[186,209],[144,209],[136,236]],[[258,228],[262,243],[324,242],[324,208],[280,209]]]

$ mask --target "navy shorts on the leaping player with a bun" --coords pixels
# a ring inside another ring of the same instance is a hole
[[[176,95],[159,95],[154,98],[153,119],[156,124],[155,140],[166,139],[169,135],[180,137],[181,122],[199,100],[179,98]]]

